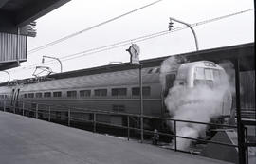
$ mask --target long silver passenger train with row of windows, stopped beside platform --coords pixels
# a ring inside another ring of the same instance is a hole
[[[181,63],[164,74],[160,64],[149,61],[143,64],[141,74],[143,115],[164,118],[172,117],[164,100],[174,85],[192,88],[198,82],[205,82],[212,87],[220,76],[226,76],[222,67],[210,61]],[[139,69],[131,64],[110,64],[41,78],[4,82],[0,84],[0,99],[9,100],[12,104],[27,101],[84,111],[140,114]],[[231,107],[226,108],[223,115],[229,116]],[[65,118],[66,113],[57,110],[56,116]],[[72,115],[74,118],[81,116],[90,118],[90,115],[75,112]],[[127,119],[119,115],[99,115],[97,119],[118,125],[127,123]],[[135,122],[139,126],[139,121]],[[146,129],[162,129],[166,126],[165,122],[144,121]]]

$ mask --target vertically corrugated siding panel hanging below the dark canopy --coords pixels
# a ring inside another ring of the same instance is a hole
[[[19,36],[19,61],[27,60],[27,36]],[[17,35],[0,33],[0,63],[17,61]]]

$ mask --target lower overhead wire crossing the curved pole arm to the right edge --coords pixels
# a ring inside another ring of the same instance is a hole
[[[210,22],[215,22],[215,21],[218,21],[218,20],[228,18],[230,16],[242,14],[242,13],[245,13],[245,12],[250,11],[250,10],[253,10],[253,9],[247,9],[247,10],[243,10],[243,11],[239,11],[239,12],[235,12],[235,13],[230,13],[228,15],[224,15],[224,16],[204,20],[204,21],[201,21],[201,22],[193,23],[193,24],[191,24],[191,26],[192,27],[201,26],[201,25],[204,25],[204,24],[207,24],[207,23],[210,23]],[[68,54],[68,55],[65,55],[63,57],[60,57],[59,59],[62,59],[63,62],[64,61],[69,61],[69,60],[81,58],[83,56],[88,56],[88,55],[92,55],[92,54],[99,53],[99,52],[102,52],[102,51],[118,48],[120,46],[127,46],[127,45],[130,45],[131,43],[143,42],[143,41],[153,39],[153,38],[156,38],[156,37],[159,37],[159,36],[163,36],[163,35],[169,34],[170,32],[179,31],[179,30],[182,30],[182,29],[185,29],[185,28],[188,28],[188,27],[185,27],[185,26],[184,27],[176,27],[172,31],[169,31],[169,30],[159,31],[159,32],[155,32],[155,33],[152,33],[152,34],[140,36],[140,37],[137,37],[137,38],[120,41],[118,43],[110,44],[110,45],[107,45],[107,46],[99,46],[99,47],[84,50],[82,52]],[[46,65],[54,64],[54,63],[55,63],[55,61],[50,60],[50,61],[46,62]],[[39,63],[39,64],[41,64],[41,63]],[[24,69],[34,69],[36,65],[38,65],[38,64],[32,64],[32,65],[28,65],[27,67],[22,67],[23,68],[22,70],[24,70]],[[15,70],[15,71],[17,71],[17,70]]]

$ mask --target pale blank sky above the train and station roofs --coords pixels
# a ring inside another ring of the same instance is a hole
[[[153,6],[85,31],[62,43],[34,53],[30,51],[154,1],[71,0],[36,20],[37,36],[28,38],[27,41],[27,62],[17,68],[9,69],[10,79],[33,77],[35,66],[49,66],[53,72],[60,72],[60,64],[57,61],[50,62],[50,59],[46,59],[46,63],[42,64],[43,55],[59,58],[63,63],[63,71],[66,72],[113,62],[129,62],[130,56],[125,50],[131,44],[137,44],[140,47],[140,60],[195,51],[192,31],[186,28],[141,42],[127,42],[125,46],[98,53],[83,54],[81,57],[73,56],[77,58],[72,60],[64,58],[88,49],[168,30],[169,17],[193,24],[246,9],[254,9],[253,0],[162,0]],[[174,28],[182,26],[174,22]],[[251,43],[254,42],[254,11],[197,26],[194,30],[199,50]],[[8,80],[4,73],[1,73],[0,77],[0,82]]]

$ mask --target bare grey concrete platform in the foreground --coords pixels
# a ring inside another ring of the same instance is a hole
[[[0,163],[226,164],[227,162],[0,112]]]

